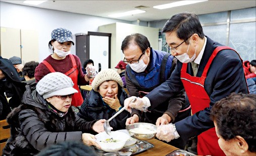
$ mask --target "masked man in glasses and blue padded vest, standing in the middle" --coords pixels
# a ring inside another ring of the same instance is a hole
[[[164,51],[152,49],[147,37],[142,34],[126,36],[122,41],[121,50],[124,54],[123,61],[128,64],[125,80],[129,96],[144,97],[165,82],[176,66],[176,58]],[[126,125],[136,122],[162,125],[189,116],[190,105],[185,104],[184,92],[181,91],[179,96],[177,99],[166,100],[151,112],[141,113],[133,109],[132,117],[126,120]],[[181,110],[182,112],[178,113]],[[185,143],[181,139],[170,142],[171,145],[181,149],[185,147]]]

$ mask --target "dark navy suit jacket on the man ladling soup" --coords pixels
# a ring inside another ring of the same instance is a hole
[[[217,46],[223,45],[207,37],[206,48],[197,76],[200,77],[202,75],[205,65]],[[188,64],[187,73],[191,75],[193,70],[191,63]],[[181,67],[182,63],[177,61],[176,68],[170,78],[146,96],[151,102],[149,111],[167,99],[175,97],[177,92],[184,89],[180,80]],[[175,123],[178,134],[184,140],[214,127],[213,121],[210,119],[210,111],[217,101],[227,97],[232,92],[248,93],[242,62],[236,52],[233,50],[222,50],[216,55],[208,70],[204,88],[211,100],[209,107]]]

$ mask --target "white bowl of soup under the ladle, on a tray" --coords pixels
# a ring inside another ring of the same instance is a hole
[[[121,149],[130,138],[128,134],[120,131],[111,131],[111,135],[101,132],[96,134],[95,137],[95,141],[100,145],[101,149],[108,152]]]

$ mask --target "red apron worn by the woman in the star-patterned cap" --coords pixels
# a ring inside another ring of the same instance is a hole
[[[78,84],[77,84],[78,83],[78,72],[79,72],[78,67],[77,67],[77,63],[76,63],[75,58],[72,54],[70,54],[70,58],[72,60],[73,67],[64,74],[66,74],[67,76],[69,76],[72,79],[72,81],[74,83],[73,87],[78,91],[78,93],[75,93],[72,96],[72,102],[71,102],[72,106],[77,107],[77,106],[81,106],[84,100],[83,100],[83,97],[80,93],[80,89],[79,89]],[[44,65],[46,65],[46,67],[50,70],[50,72],[56,72],[53,69],[53,67],[50,65],[50,63],[48,63],[47,61],[43,60],[42,63]]]

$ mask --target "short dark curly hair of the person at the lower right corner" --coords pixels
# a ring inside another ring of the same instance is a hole
[[[232,93],[218,101],[211,110],[211,118],[218,127],[218,134],[225,140],[239,135],[248,149],[256,152],[256,96]]]

